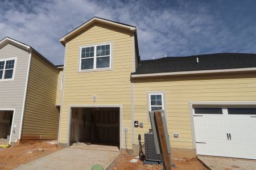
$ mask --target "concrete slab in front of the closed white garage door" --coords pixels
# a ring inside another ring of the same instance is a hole
[[[211,156],[197,156],[197,158],[212,170],[253,170],[256,169],[256,160],[220,158]]]

